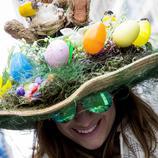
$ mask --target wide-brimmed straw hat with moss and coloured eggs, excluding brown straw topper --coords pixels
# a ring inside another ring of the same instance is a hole
[[[0,78],[1,128],[32,128],[74,100],[158,76],[149,21],[103,19],[11,50]]]

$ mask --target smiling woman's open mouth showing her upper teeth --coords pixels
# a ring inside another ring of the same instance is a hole
[[[92,134],[94,133],[94,131],[96,131],[96,129],[98,128],[99,124],[100,124],[101,120],[99,120],[95,125],[87,128],[87,129],[77,129],[77,128],[73,128],[73,130],[75,132],[77,132],[78,134],[82,134],[82,135],[88,135],[88,134]]]

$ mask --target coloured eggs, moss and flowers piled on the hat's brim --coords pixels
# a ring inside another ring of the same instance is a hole
[[[152,53],[147,19],[105,15],[97,23],[64,28],[61,33],[33,44],[22,41],[11,50],[8,66],[0,76],[1,109],[53,105],[85,81]]]

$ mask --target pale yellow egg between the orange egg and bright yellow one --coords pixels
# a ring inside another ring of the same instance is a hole
[[[119,47],[130,46],[138,37],[140,26],[137,21],[129,20],[120,24],[112,34],[112,40]]]

